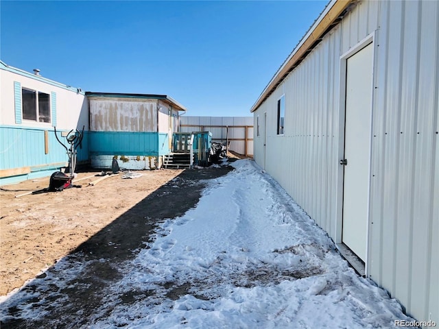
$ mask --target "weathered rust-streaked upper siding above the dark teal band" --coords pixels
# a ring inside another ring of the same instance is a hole
[[[157,132],[157,101],[90,99],[94,132]]]

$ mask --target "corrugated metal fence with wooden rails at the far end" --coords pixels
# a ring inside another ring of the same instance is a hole
[[[253,156],[253,117],[180,117],[180,132],[211,132],[212,141]]]

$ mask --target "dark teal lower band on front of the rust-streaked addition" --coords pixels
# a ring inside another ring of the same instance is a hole
[[[157,132],[89,132],[91,155],[158,156]]]

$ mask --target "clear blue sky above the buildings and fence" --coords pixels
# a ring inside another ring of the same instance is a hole
[[[82,90],[250,108],[324,1],[1,1],[1,60]]]

